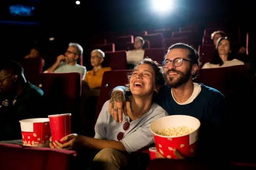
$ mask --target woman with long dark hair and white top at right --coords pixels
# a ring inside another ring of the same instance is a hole
[[[244,65],[242,61],[235,59],[230,46],[231,43],[228,37],[220,37],[216,45],[215,55],[212,57],[212,60],[210,62],[206,62],[202,68]]]

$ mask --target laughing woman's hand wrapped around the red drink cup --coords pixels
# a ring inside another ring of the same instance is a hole
[[[67,143],[60,143],[59,141],[52,141],[52,138],[50,138],[50,148],[54,149],[54,146],[56,149],[66,149],[66,150],[70,150],[70,149],[74,149],[77,148],[77,144],[79,143],[79,139],[81,138],[80,135],[77,134],[71,134],[71,135],[67,135],[65,137],[63,137],[61,139],[61,142],[67,142]],[[54,145],[54,146],[53,146]]]

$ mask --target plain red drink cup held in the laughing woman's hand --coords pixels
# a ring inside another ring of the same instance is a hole
[[[60,115],[49,115],[50,127],[51,127],[51,138],[61,142],[61,138],[70,135],[71,133],[71,113],[60,114]],[[66,143],[66,142],[61,142]]]

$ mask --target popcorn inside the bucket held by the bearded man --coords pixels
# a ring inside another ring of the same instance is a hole
[[[157,132],[157,134],[163,135],[163,136],[177,137],[177,136],[187,135],[193,131],[194,131],[193,128],[187,128],[186,126],[180,126],[177,128],[166,128],[163,130],[159,130]]]

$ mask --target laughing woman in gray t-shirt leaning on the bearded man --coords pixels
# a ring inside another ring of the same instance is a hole
[[[131,93],[126,102],[124,121],[115,122],[108,112],[108,105],[113,100],[108,100],[102,107],[95,125],[95,137],[89,138],[77,134],[68,135],[61,144],[54,142],[57,149],[93,148],[100,150],[94,162],[102,164],[99,169],[119,170],[128,163],[128,154],[154,143],[153,135],[149,129],[151,122],[164,117],[167,112],[154,103],[154,97],[159,87],[164,85],[164,75],[158,63],[149,58],[141,60],[134,67],[128,77],[128,91]],[[50,139],[51,141],[51,139]],[[50,144],[53,148],[53,145]]]

